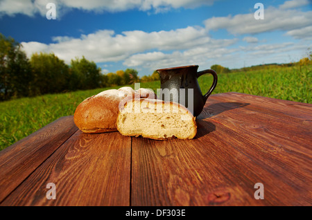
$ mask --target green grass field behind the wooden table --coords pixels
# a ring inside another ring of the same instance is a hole
[[[258,71],[218,75],[214,93],[236,91],[282,100],[311,103],[312,66],[263,67]],[[198,79],[202,93],[209,89],[212,77],[203,75]],[[160,82],[141,83],[141,88],[156,91]],[[62,116],[73,115],[85,98],[111,87],[89,91],[42,95],[0,102],[0,149],[21,140]],[[134,88],[134,85],[132,85]]]

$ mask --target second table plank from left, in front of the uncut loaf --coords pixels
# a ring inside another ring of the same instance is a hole
[[[129,205],[130,158],[130,137],[78,130],[1,205]]]

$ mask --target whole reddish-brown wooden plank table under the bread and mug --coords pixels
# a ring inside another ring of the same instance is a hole
[[[312,205],[311,120],[312,104],[243,93],[211,95],[193,140],[62,117],[0,152],[0,205]]]

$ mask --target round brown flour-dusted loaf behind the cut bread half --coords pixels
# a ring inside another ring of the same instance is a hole
[[[73,114],[76,126],[85,133],[116,131],[119,105],[132,98],[157,98],[150,89],[134,90],[130,86],[109,89],[81,102]]]

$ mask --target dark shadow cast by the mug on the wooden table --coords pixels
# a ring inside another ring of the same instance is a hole
[[[210,118],[216,116],[223,111],[229,111],[232,109],[238,109],[248,106],[250,103],[241,103],[241,102],[218,102],[216,104],[210,104],[206,107],[202,113],[197,117],[197,120],[202,120],[205,118]]]

